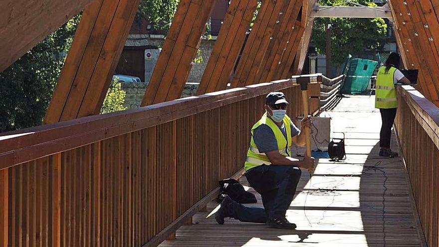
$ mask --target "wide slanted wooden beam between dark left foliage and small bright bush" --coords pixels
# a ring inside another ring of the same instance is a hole
[[[140,0],[97,0],[85,9],[44,123],[98,114]]]

